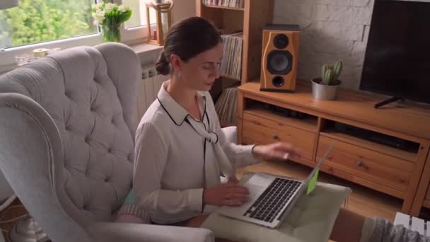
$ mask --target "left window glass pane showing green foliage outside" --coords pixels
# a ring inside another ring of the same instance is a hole
[[[0,49],[98,33],[95,0],[21,0],[0,11]]]

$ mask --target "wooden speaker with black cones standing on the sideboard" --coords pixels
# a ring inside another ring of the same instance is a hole
[[[298,25],[269,24],[263,30],[261,91],[292,93],[296,90]]]

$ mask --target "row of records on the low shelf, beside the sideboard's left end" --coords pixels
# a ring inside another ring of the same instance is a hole
[[[221,125],[237,124],[238,88],[226,88],[215,103],[215,110]]]

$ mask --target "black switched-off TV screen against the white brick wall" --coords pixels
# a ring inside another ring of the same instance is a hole
[[[360,89],[430,103],[430,3],[376,0]]]

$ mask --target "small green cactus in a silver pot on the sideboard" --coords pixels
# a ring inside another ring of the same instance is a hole
[[[342,81],[337,79],[342,72],[342,62],[322,66],[321,77],[312,79],[313,97],[319,100],[335,100]]]

